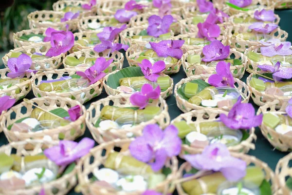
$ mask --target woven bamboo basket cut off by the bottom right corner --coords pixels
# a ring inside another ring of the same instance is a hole
[[[291,190],[286,186],[286,178],[291,177],[292,153],[281,158],[275,168],[275,175],[279,184],[278,195],[291,195]]]

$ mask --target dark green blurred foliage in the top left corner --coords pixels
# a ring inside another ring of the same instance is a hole
[[[0,0],[0,52],[13,49],[13,33],[29,29],[27,15],[52,10],[57,0]]]

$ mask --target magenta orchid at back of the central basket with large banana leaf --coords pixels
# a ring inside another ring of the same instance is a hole
[[[141,64],[138,64],[145,75],[145,78],[152,82],[156,82],[159,78],[159,74],[165,69],[165,62],[159,60],[155,62],[152,66],[152,63],[148,59],[143,59]]]

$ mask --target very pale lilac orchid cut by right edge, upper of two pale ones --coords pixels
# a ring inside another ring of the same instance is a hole
[[[273,57],[276,55],[289,56],[292,55],[291,42],[281,42],[280,39],[271,39],[267,42],[261,41],[266,47],[260,48],[260,53],[267,57]]]

